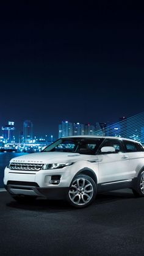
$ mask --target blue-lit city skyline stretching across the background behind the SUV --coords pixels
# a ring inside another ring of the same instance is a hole
[[[2,141],[11,143],[19,142],[22,144],[32,143],[38,139],[43,141],[55,141],[58,137],[74,136],[74,135],[98,135],[98,136],[120,136],[120,137],[132,137],[134,139],[143,139],[144,129],[144,112],[132,117],[126,116],[119,117],[117,122],[95,122],[95,123],[80,123],[80,122],[68,122],[62,121],[58,125],[58,135],[54,134],[35,134],[33,130],[33,123],[31,120],[24,120],[23,131],[19,131],[18,136],[15,134],[15,122],[8,121],[7,125],[1,126],[0,139]],[[132,121],[133,120],[133,121]],[[139,125],[138,125],[139,123]],[[128,129],[127,129],[128,128]],[[141,130],[141,131],[140,131]],[[42,131],[41,131],[42,134]],[[141,135],[140,135],[141,134]],[[138,137],[137,137],[138,136]],[[140,141],[141,141],[140,139]]]

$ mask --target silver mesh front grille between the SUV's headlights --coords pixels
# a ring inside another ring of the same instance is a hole
[[[11,163],[9,168],[10,170],[32,170],[37,172],[42,166],[43,164]]]

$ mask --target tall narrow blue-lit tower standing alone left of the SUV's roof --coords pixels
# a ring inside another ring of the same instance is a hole
[[[31,122],[31,120],[25,120],[23,123],[24,143],[32,142],[32,130],[33,130],[33,123]]]

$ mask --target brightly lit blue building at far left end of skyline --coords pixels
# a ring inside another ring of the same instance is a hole
[[[15,142],[15,136],[14,136],[14,131],[15,131],[15,123],[14,122],[8,122],[8,125],[2,126],[2,131],[3,131],[3,137],[4,137],[4,142],[5,143],[14,143]]]

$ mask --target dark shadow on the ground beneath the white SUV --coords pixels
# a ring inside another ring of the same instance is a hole
[[[96,196],[95,201],[93,202],[92,205],[90,205],[90,207],[93,207],[93,206],[96,207],[96,205],[110,203],[117,200],[128,200],[128,199],[135,199],[130,189],[103,192]],[[81,210],[87,210],[89,208],[88,207],[84,209],[77,209],[69,205],[65,200],[47,200],[47,199],[41,199],[41,198],[38,198],[33,202],[23,202],[23,203],[16,202],[14,199],[12,199],[12,201],[7,203],[6,205],[7,207],[10,207],[10,208],[16,208],[20,210],[29,210],[29,211],[41,211],[44,213],[48,211],[49,213],[64,212],[64,211],[81,211]]]

